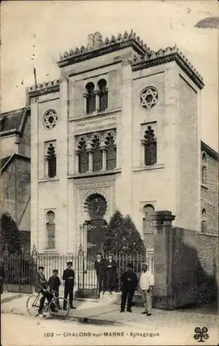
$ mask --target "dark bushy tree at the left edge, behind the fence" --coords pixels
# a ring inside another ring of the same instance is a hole
[[[1,215],[1,251],[8,253],[21,253],[21,235],[16,222],[8,212]]]

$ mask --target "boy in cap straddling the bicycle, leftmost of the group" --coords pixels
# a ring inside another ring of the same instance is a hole
[[[53,299],[53,294],[48,290],[48,282],[44,275],[44,266],[38,267],[37,275],[35,276],[35,291],[42,294],[41,299],[39,300],[39,316],[43,316],[43,309],[45,300],[48,300],[48,303]],[[57,312],[55,306],[51,307],[53,312]]]

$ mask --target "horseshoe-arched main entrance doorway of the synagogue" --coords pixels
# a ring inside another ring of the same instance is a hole
[[[107,202],[102,194],[91,194],[84,203],[84,210],[88,213],[87,225],[87,254],[95,255],[97,251],[103,251],[106,239],[107,222],[104,219],[107,210]]]

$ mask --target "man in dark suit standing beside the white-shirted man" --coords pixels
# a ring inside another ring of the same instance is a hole
[[[133,302],[133,295],[135,293],[135,289],[137,288],[137,275],[133,272],[133,264],[127,265],[127,270],[122,274],[121,277],[122,284],[122,302],[121,302],[121,310],[120,312],[124,312],[127,302],[127,311],[131,311],[131,305]]]

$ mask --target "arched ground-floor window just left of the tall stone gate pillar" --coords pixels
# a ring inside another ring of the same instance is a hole
[[[154,210],[152,204],[146,204],[143,208],[144,246],[146,250],[152,250],[154,247],[154,226],[152,219]]]

